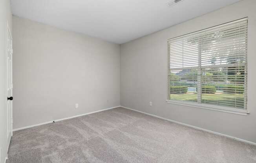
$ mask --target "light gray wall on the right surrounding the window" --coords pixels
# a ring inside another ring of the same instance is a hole
[[[249,17],[249,116],[166,103],[167,40]],[[166,20],[168,21],[168,20]],[[121,45],[121,105],[171,120],[256,142],[256,0],[243,0]],[[153,106],[148,105],[149,101]]]

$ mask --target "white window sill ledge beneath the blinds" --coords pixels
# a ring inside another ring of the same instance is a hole
[[[248,110],[232,109],[230,107],[221,107],[221,106],[215,106],[215,105],[199,104],[199,103],[192,103],[192,102],[182,102],[182,101],[175,101],[175,100],[166,100],[166,102],[176,104],[176,105],[194,107],[197,109],[207,109],[207,110],[214,110],[214,111],[219,111],[219,112],[228,112],[228,113],[239,114],[239,115],[243,115],[243,116],[247,116],[249,114]]]

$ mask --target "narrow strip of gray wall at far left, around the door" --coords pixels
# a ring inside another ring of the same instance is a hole
[[[7,22],[11,30],[12,16],[9,0],[0,1],[0,148],[1,150],[1,163],[4,163],[7,156],[7,97],[6,97],[6,72],[7,72],[7,59],[6,59],[6,36],[7,36]]]

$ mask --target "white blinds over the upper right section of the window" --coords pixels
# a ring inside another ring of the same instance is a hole
[[[201,36],[201,66],[246,62],[247,20],[208,30]]]

